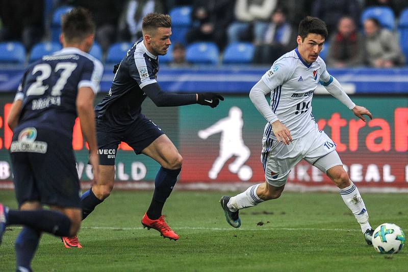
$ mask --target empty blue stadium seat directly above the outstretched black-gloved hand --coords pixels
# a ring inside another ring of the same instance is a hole
[[[187,46],[186,60],[196,64],[217,64],[218,47],[214,42],[194,42]]]

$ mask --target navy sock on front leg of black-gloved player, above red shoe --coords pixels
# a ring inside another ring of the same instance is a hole
[[[177,182],[177,176],[179,176],[180,171],[181,168],[172,170],[160,167],[155,180],[153,199],[147,210],[147,216],[150,219],[157,219],[162,215],[164,203],[166,202],[167,197],[170,196],[170,193]]]

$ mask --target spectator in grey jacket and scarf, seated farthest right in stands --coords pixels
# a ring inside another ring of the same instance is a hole
[[[372,67],[394,67],[405,63],[398,40],[377,19],[364,21],[366,63]]]

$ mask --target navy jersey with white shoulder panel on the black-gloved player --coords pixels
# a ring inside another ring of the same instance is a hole
[[[157,82],[158,71],[158,57],[147,51],[143,38],[139,39],[120,62],[108,94],[96,105],[96,117],[114,127],[130,125],[140,117],[146,98],[142,88]]]

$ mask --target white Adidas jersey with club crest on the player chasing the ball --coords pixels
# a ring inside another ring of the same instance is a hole
[[[333,80],[326,71],[326,64],[318,57],[312,64],[305,63],[297,49],[276,60],[262,76],[262,81],[271,90],[270,108],[297,139],[315,128],[312,114],[312,97],[319,80],[329,83]],[[272,139],[268,122],[265,134]]]

